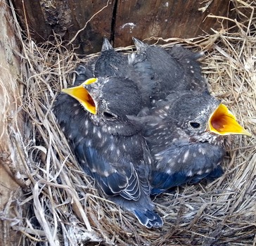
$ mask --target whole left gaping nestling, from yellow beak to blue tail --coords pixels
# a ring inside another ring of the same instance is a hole
[[[139,89],[124,77],[87,79],[63,89],[54,106],[77,162],[98,188],[144,226],[160,227],[149,197],[151,155],[141,125],[128,117],[139,110]]]

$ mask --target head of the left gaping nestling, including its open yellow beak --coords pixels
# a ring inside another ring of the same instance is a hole
[[[63,89],[63,92],[77,99],[97,125],[118,123],[121,127],[128,124],[127,115],[137,115],[141,110],[138,87],[123,77],[91,78],[79,86]]]

